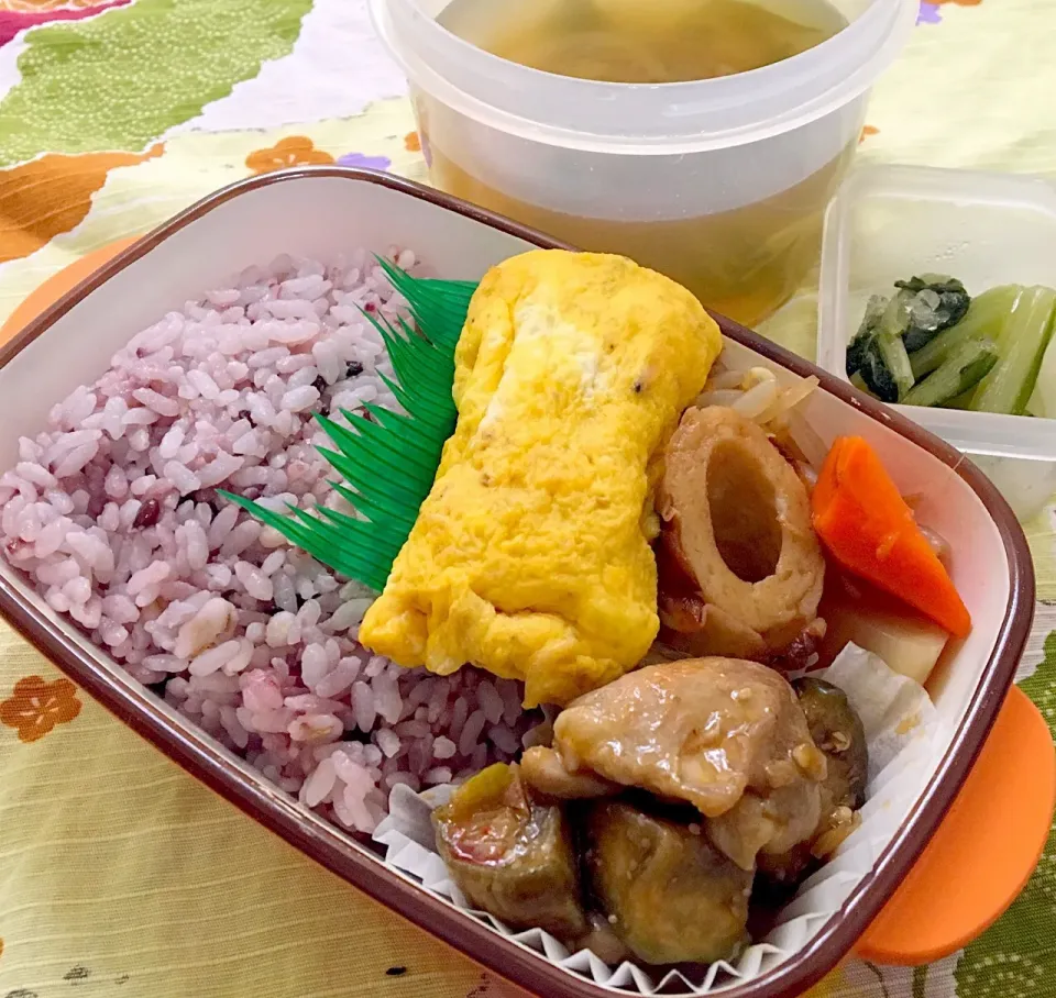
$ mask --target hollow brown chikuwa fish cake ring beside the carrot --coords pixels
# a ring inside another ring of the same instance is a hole
[[[813,624],[825,561],[810,498],[755,422],[689,410],[668,444],[658,508],[664,643],[762,658]]]

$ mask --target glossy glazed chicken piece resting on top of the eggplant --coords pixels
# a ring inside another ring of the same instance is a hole
[[[558,763],[569,774],[562,796],[607,791],[588,775],[692,803],[744,869],[760,851],[814,833],[826,775],[792,687],[733,658],[647,666],[581,697],[554,721],[553,752],[532,757],[525,777],[560,790]]]

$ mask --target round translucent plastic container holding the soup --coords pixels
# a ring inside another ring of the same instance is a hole
[[[642,85],[491,55],[437,23],[451,2],[371,0],[410,81],[432,182],[573,245],[631,256],[749,325],[816,262],[822,213],[857,147],[869,90],[919,5],[827,0],[846,26],[799,55]],[[658,16],[669,2],[653,0]]]

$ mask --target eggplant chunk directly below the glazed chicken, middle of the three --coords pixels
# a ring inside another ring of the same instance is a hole
[[[754,871],[701,831],[619,800],[591,807],[586,868],[594,900],[644,963],[713,963],[747,940]]]

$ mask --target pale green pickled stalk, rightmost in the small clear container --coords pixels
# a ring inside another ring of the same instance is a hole
[[[999,359],[972,398],[977,412],[1023,414],[1053,331],[1056,291],[1027,288],[998,341]]]

